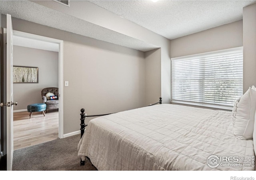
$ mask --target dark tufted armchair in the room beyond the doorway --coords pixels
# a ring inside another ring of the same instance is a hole
[[[50,88],[44,88],[41,91],[43,103],[46,104],[46,111],[52,110],[52,109],[58,109],[59,108],[59,100],[58,99],[56,99],[56,100],[47,99],[46,94],[48,92],[51,92],[55,96],[59,97],[59,88],[50,87]]]

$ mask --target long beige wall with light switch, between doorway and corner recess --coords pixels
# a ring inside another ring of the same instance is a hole
[[[14,30],[64,41],[64,134],[80,129],[81,108],[101,114],[144,106],[144,52],[17,18],[12,24]]]

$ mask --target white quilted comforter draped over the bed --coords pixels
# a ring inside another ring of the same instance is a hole
[[[254,156],[253,141],[232,129],[231,112],[159,104],[90,120],[78,156],[98,170],[254,170],[206,164],[210,155]]]

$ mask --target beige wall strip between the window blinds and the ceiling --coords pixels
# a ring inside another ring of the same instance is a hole
[[[243,46],[243,21],[171,40],[171,58]]]

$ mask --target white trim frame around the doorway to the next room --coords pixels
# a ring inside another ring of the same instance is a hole
[[[59,132],[58,136],[59,138],[64,138],[63,135],[63,40],[59,39],[54,39],[54,38],[49,38],[45,36],[40,36],[36,34],[30,34],[27,32],[21,32],[17,30],[13,30],[13,35],[14,36],[20,36],[22,38],[29,38],[33,40],[40,40],[40,41],[45,41],[45,42],[51,42],[51,43],[56,43],[59,44],[59,77],[58,77],[58,88],[59,88]]]

